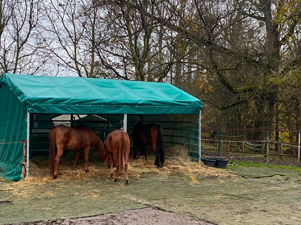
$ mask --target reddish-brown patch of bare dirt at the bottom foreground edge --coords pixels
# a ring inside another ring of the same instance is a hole
[[[30,223],[13,223],[12,225],[145,225],[145,224],[181,224],[181,225],[214,225],[198,218],[184,216],[173,212],[161,211],[153,207],[128,210],[120,213]]]

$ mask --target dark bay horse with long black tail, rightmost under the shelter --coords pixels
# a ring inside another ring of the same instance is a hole
[[[161,126],[156,123],[143,124],[142,122],[136,123],[132,132],[134,158],[137,155],[137,149],[141,155],[146,157],[146,146],[150,145],[156,154],[155,166],[162,167],[164,164],[164,149],[163,137]],[[159,161],[160,159],[160,161]]]

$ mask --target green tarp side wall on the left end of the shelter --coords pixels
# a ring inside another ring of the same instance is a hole
[[[0,177],[20,181],[23,143],[26,138],[27,110],[6,84],[0,87]],[[17,143],[11,143],[17,142]]]

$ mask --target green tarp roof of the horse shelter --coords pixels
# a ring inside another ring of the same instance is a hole
[[[4,73],[30,113],[192,114],[203,103],[168,83]]]

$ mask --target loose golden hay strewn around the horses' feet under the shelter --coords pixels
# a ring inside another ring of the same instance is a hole
[[[186,175],[193,175],[194,177],[201,178],[233,178],[233,175],[223,169],[212,168],[204,166],[203,163],[192,162],[191,158],[187,154],[187,148],[182,146],[175,146],[166,148],[165,150],[165,163],[163,168],[156,168],[154,166],[155,154],[150,153],[147,160],[144,157],[139,159],[133,159],[130,156],[129,159],[129,178],[139,178],[145,173],[155,173],[160,177],[167,177],[173,172],[180,172]],[[109,177],[110,169],[108,163],[101,163],[97,158],[95,152],[91,152],[89,155],[89,172],[84,171],[83,161],[79,160],[75,170],[72,170],[73,154],[70,154],[66,158],[60,159],[60,170],[62,175],[59,175],[57,180],[68,179],[89,179],[92,177]],[[29,164],[30,176],[24,179],[27,183],[41,183],[46,181],[53,181],[48,169],[48,160],[33,159]],[[124,176],[124,171],[120,173]]]

